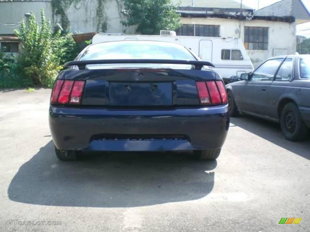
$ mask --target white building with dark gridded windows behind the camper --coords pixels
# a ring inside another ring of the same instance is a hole
[[[295,5],[292,3],[281,7],[295,9]],[[296,52],[293,10],[285,11],[287,13],[283,15],[259,15],[246,5],[241,7],[240,1],[235,0],[183,0],[178,8],[183,26],[177,34],[239,37],[254,67],[257,67],[269,57]]]

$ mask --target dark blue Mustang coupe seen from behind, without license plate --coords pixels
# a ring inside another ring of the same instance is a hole
[[[216,159],[228,132],[228,99],[221,76],[207,66],[213,64],[168,42],[86,47],[64,65],[51,94],[57,157],[193,150],[201,159]]]

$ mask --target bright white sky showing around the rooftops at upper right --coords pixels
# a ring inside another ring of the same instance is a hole
[[[254,9],[259,9],[259,8],[269,6],[279,1],[281,0],[242,0],[242,3]],[[310,12],[310,0],[302,0],[302,2],[308,8],[308,11]],[[258,3],[259,3],[259,7],[258,7]],[[297,25],[296,30],[297,30],[296,32],[297,35],[302,35],[302,36],[306,36],[310,38],[310,22]]]

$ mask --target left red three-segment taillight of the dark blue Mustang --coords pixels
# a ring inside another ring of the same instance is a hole
[[[81,104],[84,80],[57,80],[51,96],[52,104]]]

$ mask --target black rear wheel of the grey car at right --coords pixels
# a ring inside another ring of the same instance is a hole
[[[287,140],[299,141],[305,139],[308,127],[303,122],[298,107],[287,103],[281,112],[281,131]]]

